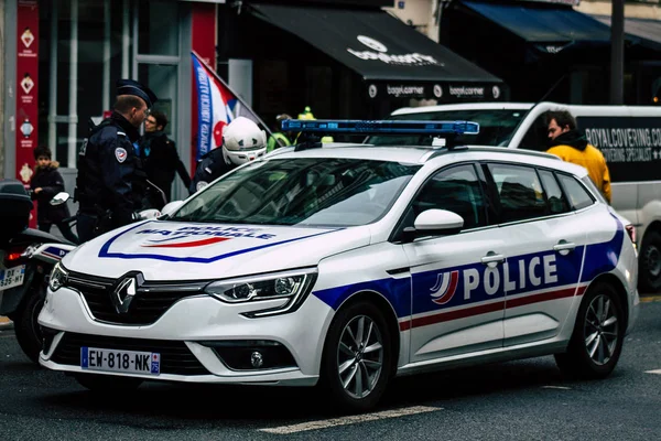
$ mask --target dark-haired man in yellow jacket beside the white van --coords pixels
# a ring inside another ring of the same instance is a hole
[[[599,149],[587,143],[585,135],[577,130],[572,114],[567,110],[548,111],[546,127],[550,147],[546,152],[587,169],[589,179],[610,203],[610,174],[606,159]]]

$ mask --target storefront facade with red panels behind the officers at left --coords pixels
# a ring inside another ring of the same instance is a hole
[[[115,82],[154,90],[167,135],[189,168],[191,51],[215,63],[223,1],[6,0],[3,176],[30,182],[33,149],[48,146],[74,191],[77,149],[111,110]],[[1,107],[0,107],[1,109]],[[176,181],[175,181],[176,182]],[[186,195],[181,183],[175,196]],[[75,208],[75,207],[73,207]]]

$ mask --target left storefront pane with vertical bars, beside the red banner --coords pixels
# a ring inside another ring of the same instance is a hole
[[[59,0],[40,8],[39,138],[62,166],[75,168],[89,120],[110,110],[115,82],[130,73],[131,14],[123,6]]]

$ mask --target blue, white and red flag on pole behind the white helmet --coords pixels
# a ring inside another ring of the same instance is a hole
[[[271,130],[227,83],[212,69],[195,51],[193,74],[197,89],[197,151],[199,159],[223,144],[223,129],[237,117],[246,117],[261,125],[271,136]]]

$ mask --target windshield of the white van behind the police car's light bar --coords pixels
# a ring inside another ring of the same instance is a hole
[[[513,130],[525,115],[524,109],[464,109],[440,110],[422,114],[397,115],[388,119],[419,121],[474,121],[479,123],[478,135],[459,135],[456,143],[478,146],[506,146]],[[375,146],[431,146],[432,137],[418,135],[371,136],[365,143]]]

